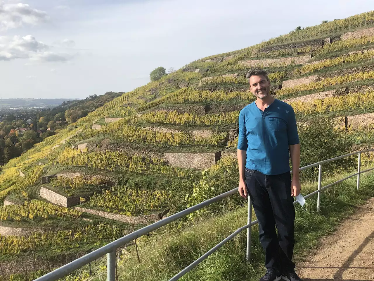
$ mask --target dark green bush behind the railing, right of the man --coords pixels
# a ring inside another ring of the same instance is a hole
[[[314,120],[298,127],[301,155],[300,167],[317,163],[322,160],[348,154],[352,150],[352,140],[341,130],[334,129],[330,120]],[[324,175],[343,172],[353,167],[353,157],[346,157],[322,165]],[[304,179],[317,179],[318,166],[304,170],[300,174]]]

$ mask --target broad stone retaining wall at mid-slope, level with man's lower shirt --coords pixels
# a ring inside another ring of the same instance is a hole
[[[164,153],[165,160],[174,167],[208,169],[221,158],[221,151],[212,153]]]

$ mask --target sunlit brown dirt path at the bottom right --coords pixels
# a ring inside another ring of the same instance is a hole
[[[344,220],[307,262],[297,265],[304,281],[374,280],[374,198]]]

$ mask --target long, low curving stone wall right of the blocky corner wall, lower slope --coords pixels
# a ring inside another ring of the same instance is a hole
[[[140,215],[140,216],[126,216],[121,214],[114,214],[109,212],[103,212],[93,209],[86,209],[81,207],[75,207],[77,211],[86,212],[89,214],[97,215],[99,217],[108,218],[110,220],[122,221],[124,223],[131,223],[131,224],[148,224],[154,223],[155,221],[159,221],[162,217],[167,213],[168,210],[164,212],[160,212],[159,214],[150,214],[150,215]]]

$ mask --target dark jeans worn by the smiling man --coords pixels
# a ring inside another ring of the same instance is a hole
[[[294,199],[290,172],[264,175],[245,169],[248,194],[258,219],[260,242],[265,251],[267,271],[294,272]],[[278,237],[275,231],[278,229]]]

